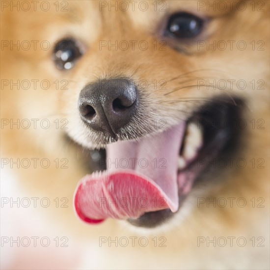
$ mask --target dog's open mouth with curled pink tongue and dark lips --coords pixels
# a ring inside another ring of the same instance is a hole
[[[166,222],[207,172],[206,163],[235,148],[242,105],[239,99],[215,99],[162,132],[92,151],[98,171],[77,186],[77,215],[88,223],[109,217],[141,227]]]

